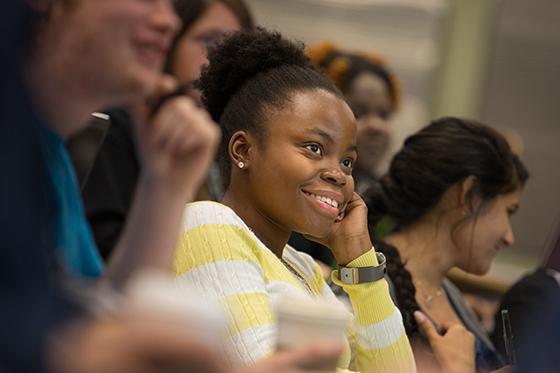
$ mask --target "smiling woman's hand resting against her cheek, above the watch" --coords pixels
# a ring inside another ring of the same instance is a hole
[[[354,193],[340,217],[334,222],[326,237],[306,238],[331,249],[338,264],[346,265],[372,248],[367,227],[367,207]]]

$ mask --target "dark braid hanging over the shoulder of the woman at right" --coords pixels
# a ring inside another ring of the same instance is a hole
[[[416,302],[416,288],[412,282],[412,276],[394,246],[384,241],[376,241],[374,246],[376,251],[383,253],[387,258],[387,275],[395,285],[397,307],[403,317],[406,335],[411,338],[419,333],[418,325],[414,320],[414,311],[420,310],[420,306]]]

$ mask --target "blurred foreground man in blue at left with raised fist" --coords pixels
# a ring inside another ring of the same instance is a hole
[[[178,333],[173,320],[119,313],[118,307],[110,317],[95,317],[71,291],[103,272],[63,147],[63,139],[93,110],[138,105],[136,128],[146,165],[119,255],[103,280],[94,281],[96,288],[106,284],[122,289],[140,269],[169,269],[183,202],[192,198],[212,160],[219,132],[187,98],[164,103],[153,115],[143,106],[149,95],[172,89],[160,73],[179,26],[171,2],[53,0],[29,5],[32,10],[8,4],[17,17],[6,24],[20,31],[19,44],[8,45],[21,52],[16,58],[23,63],[6,70],[14,74],[8,80],[13,84],[6,87],[13,88],[15,103],[6,105],[2,87],[2,127],[8,140],[16,140],[2,147],[2,154],[19,163],[7,164],[3,157],[1,165],[6,172],[18,170],[14,182],[41,184],[22,184],[19,190],[10,180],[2,187],[2,201],[9,201],[6,211],[12,213],[6,217],[2,209],[7,224],[0,236],[1,263],[7,269],[1,289],[10,301],[2,316],[11,333],[0,339],[0,369],[225,371],[215,346]],[[26,31],[28,39],[22,37]],[[29,217],[25,226],[31,231],[21,232],[15,223]],[[6,231],[10,228],[15,229]],[[89,292],[80,287],[81,294]],[[253,369],[295,369],[310,358],[338,353],[338,346],[314,347],[278,355]]]

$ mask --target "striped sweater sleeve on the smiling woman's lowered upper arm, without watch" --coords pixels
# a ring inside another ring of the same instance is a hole
[[[194,286],[224,306],[232,358],[252,363],[274,350],[276,329],[258,251],[242,228],[206,224],[186,231],[175,256],[177,286]]]

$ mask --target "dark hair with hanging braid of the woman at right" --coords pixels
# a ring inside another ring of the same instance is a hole
[[[474,176],[474,183],[467,202],[476,216],[482,206],[474,211],[473,197],[484,205],[524,186],[529,173],[496,130],[461,118],[433,121],[405,141],[387,174],[364,194],[370,232],[385,216],[393,220],[394,231],[417,222],[449,187],[469,176]],[[413,335],[417,326],[412,313],[419,306],[412,277],[396,248],[383,242],[377,248],[393,261],[387,272],[395,283],[407,334]]]

